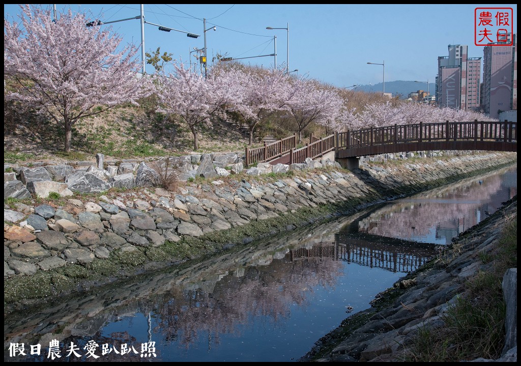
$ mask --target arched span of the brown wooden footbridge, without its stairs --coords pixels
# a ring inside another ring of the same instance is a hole
[[[516,122],[441,122],[341,132],[336,158],[423,150],[517,151]]]

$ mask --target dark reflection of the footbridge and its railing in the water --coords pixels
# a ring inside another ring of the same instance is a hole
[[[382,237],[371,235],[336,234],[333,243],[319,243],[312,248],[290,250],[290,260],[331,258],[392,272],[412,272],[423,266],[434,254],[433,244],[417,244],[386,237],[385,243],[376,242]]]

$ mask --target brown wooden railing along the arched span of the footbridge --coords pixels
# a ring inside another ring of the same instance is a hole
[[[393,125],[340,132],[337,148],[358,148],[371,145],[436,142],[436,141],[495,141],[517,142],[517,123],[439,122]]]

